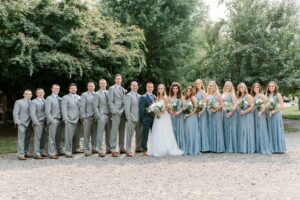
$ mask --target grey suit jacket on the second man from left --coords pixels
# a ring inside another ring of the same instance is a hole
[[[31,101],[30,117],[32,120],[32,125],[37,125],[46,121],[45,104],[45,100],[43,103],[38,98]]]

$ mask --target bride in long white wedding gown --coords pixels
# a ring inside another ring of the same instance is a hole
[[[155,157],[182,155],[183,152],[178,148],[173,133],[171,116],[167,112],[170,105],[163,84],[159,84],[157,87],[156,101],[164,105],[164,111],[159,113],[154,119],[152,134],[149,138],[148,153]]]

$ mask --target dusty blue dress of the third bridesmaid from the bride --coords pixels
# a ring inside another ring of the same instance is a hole
[[[196,98],[198,101],[203,101],[203,96],[201,92],[197,92]],[[209,138],[208,138],[208,130],[207,130],[207,112],[206,110],[199,116],[198,115],[198,128],[200,134],[200,143],[201,143],[201,151],[207,152],[209,151]]]

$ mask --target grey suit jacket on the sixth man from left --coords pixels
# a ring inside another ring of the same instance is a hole
[[[108,92],[105,92],[108,98]],[[108,106],[108,99],[106,99],[104,91],[99,90],[98,92],[96,92],[93,98],[93,106],[96,119],[99,119],[102,115],[109,115],[110,110]]]

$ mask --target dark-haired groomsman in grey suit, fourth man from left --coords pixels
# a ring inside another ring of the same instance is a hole
[[[61,114],[65,123],[65,155],[67,158],[73,158],[72,152],[76,153],[76,147],[79,136],[79,100],[80,96],[76,94],[77,85],[71,83],[69,94],[63,96],[61,101]]]

